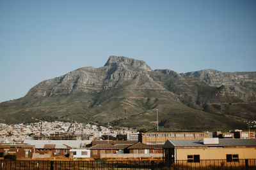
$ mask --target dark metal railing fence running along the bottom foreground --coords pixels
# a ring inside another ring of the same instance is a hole
[[[82,169],[256,169],[256,159],[239,160],[238,162],[227,162],[227,160],[200,160],[200,162],[188,162],[179,160],[174,164],[166,164],[163,161],[146,160],[0,160],[0,170],[82,170]]]

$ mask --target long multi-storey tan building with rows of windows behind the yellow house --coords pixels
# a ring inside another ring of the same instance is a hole
[[[147,145],[164,145],[167,139],[210,138],[207,132],[146,132],[139,134],[139,142]]]

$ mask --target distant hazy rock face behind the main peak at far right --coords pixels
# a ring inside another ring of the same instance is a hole
[[[185,73],[204,80],[212,87],[224,85],[244,101],[256,101],[256,72],[223,73],[214,69]]]

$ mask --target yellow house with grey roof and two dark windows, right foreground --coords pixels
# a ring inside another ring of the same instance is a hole
[[[168,139],[163,146],[164,159],[168,163],[201,160],[256,159],[256,139]],[[184,162],[182,162],[184,163]]]

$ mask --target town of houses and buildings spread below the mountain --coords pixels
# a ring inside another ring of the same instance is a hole
[[[0,124],[0,159],[15,155],[15,160],[143,159],[172,163],[223,159],[239,162],[255,159],[255,147],[253,129],[137,132],[136,129],[115,129],[109,124],[103,127],[77,122]]]

